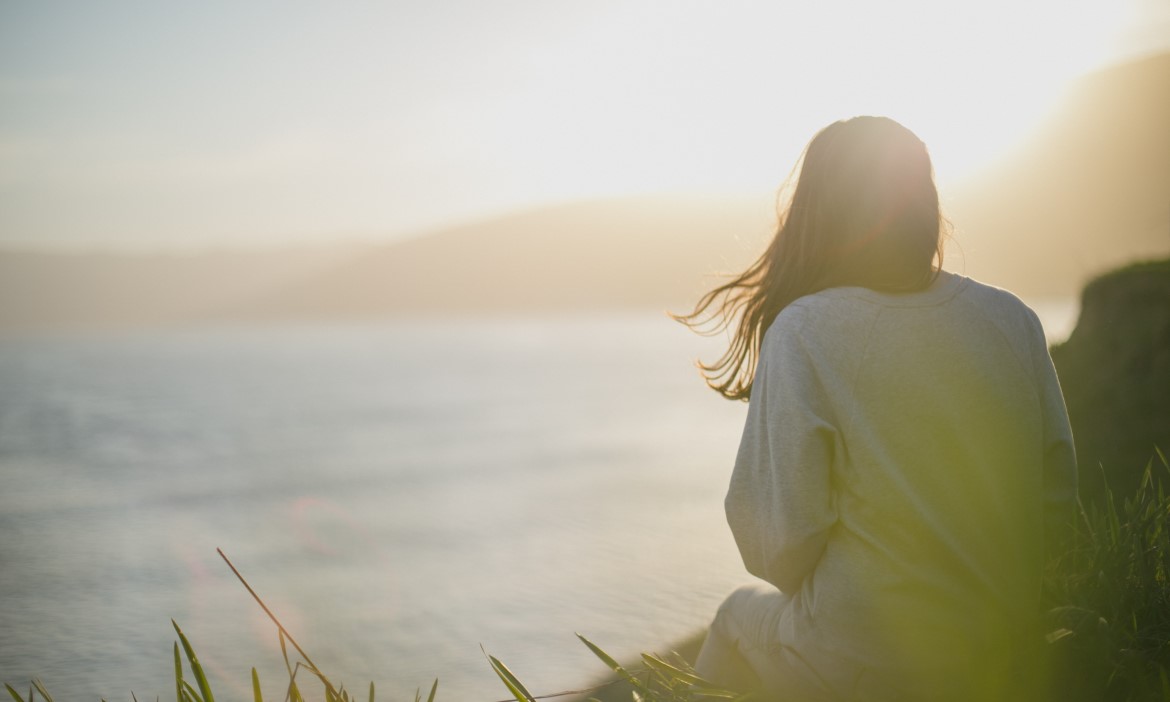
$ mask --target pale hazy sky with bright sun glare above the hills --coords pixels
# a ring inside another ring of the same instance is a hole
[[[0,246],[381,242],[645,193],[760,193],[889,115],[941,184],[1170,0],[0,0]]]

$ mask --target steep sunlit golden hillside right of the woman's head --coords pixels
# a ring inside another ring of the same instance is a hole
[[[1170,254],[1170,54],[1082,78],[950,212],[962,243],[951,260],[1025,295],[1073,296]]]

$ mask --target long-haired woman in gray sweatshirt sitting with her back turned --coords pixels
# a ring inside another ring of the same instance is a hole
[[[779,700],[1034,698],[1046,545],[1076,502],[1035,315],[941,269],[925,146],[821,130],[768,250],[681,318],[749,399],[727,516],[748,571],[696,667]]]

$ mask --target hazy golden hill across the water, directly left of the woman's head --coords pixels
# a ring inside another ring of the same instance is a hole
[[[681,311],[771,234],[766,201],[629,198],[548,207],[372,249],[245,317]]]

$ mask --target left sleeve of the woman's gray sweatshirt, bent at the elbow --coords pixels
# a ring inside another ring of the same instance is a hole
[[[724,501],[748,572],[789,593],[815,567],[837,521],[837,429],[799,331],[778,317],[764,339]]]

